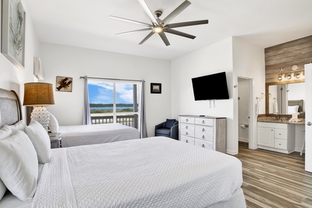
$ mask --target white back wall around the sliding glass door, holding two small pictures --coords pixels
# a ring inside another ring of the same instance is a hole
[[[55,88],[56,76],[73,78],[72,92],[55,92],[55,105],[47,107],[60,125],[83,122],[83,79],[80,76],[145,80],[148,136],[155,125],[171,118],[170,62],[135,55],[83,49],[59,44],[40,44],[45,83]],[[162,94],[150,94],[150,83],[162,83]]]

